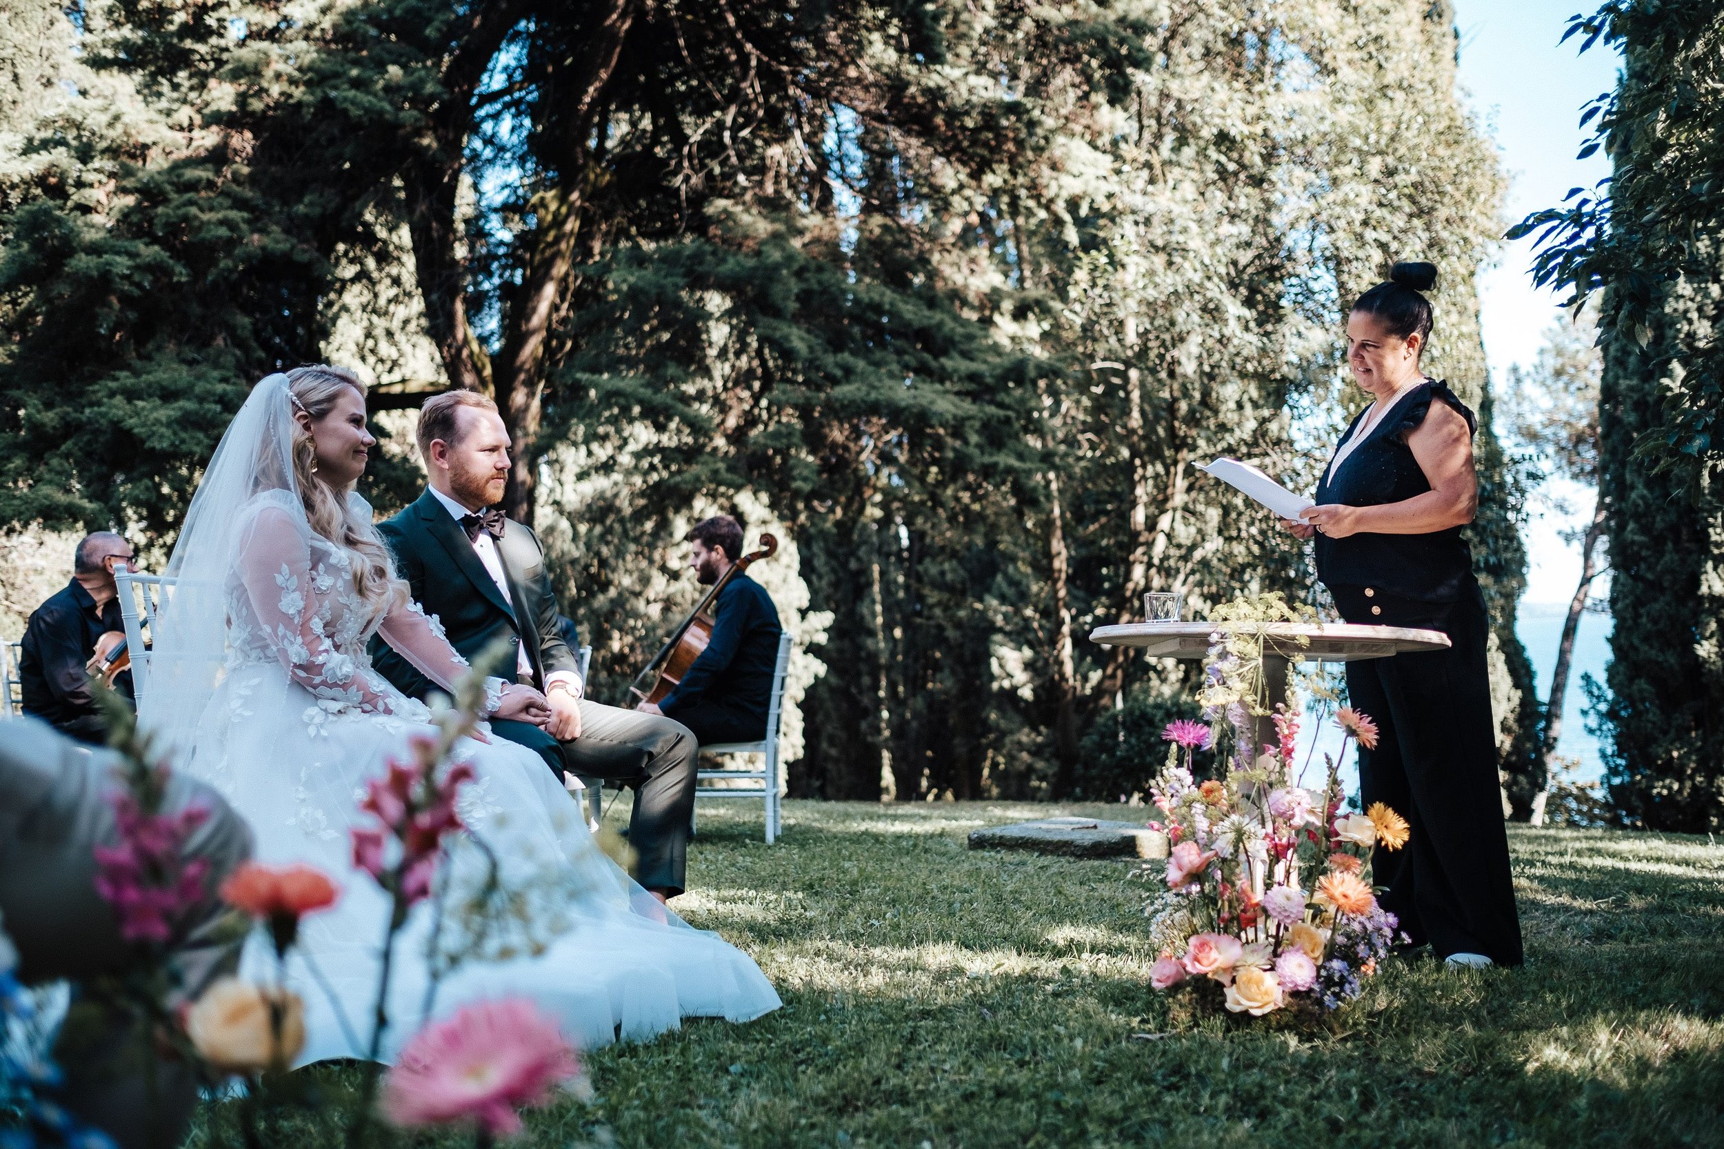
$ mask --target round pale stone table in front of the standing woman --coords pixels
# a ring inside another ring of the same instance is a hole
[[[1200,659],[1209,652],[1217,623],[1121,623],[1096,626],[1090,642],[1103,647],[1138,647],[1157,659]],[[1440,630],[1405,626],[1364,626],[1355,623],[1271,623],[1264,628],[1264,680],[1269,697],[1279,699],[1288,688],[1288,662],[1352,662],[1383,659],[1391,654],[1441,650],[1448,635]],[[1305,638],[1300,644],[1300,638]],[[1257,719],[1257,742],[1274,742],[1276,725]]]

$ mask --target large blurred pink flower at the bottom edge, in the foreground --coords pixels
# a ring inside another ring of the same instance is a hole
[[[515,1108],[543,1104],[579,1071],[574,1049],[529,1002],[478,1002],[407,1042],[383,1082],[383,1114],[402,1127],[471,1121],[493,1137],[517,1133]]]

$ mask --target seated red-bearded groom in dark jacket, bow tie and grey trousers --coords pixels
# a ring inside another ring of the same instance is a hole
[[[509,431],[478,392],[445,392],[419,412],[419,454],[431,487],[378,530],[450,645],[472,659],[498,635],[514,642],[515,680],[545,692],[529,721],[491,719],[491,733],[545,759],[559,778],[609,778],[634,787],[629,845],[634,880],[664,901],[683,892],[695,813],[695,735],[652,714],[590,702],[574,652],[557,626],[557,597],[531,528],[495,504],[509,481]],[[390,645],[372,640],[374,666],[403,694],[433,683]]]

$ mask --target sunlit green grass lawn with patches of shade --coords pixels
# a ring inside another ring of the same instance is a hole
[[[1724,845],[1515,828],[1524,970],[1395,961],[1295,1033],[1169,1018],[1131,863],[965,849],[1053,813],[1122,816],[702,807],[676,906],[784,1008],[595,1051],[529,1144],[1724,1146]]]

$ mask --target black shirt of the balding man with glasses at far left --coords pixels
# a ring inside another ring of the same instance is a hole
[[[97,638],[109,630],[122,630],[119,599],[100,611],[97,600],[74,578],[29,616],[24,647],[17,662],[24,713],[83,738],[105,742],[107,723],[90,690],[84,664],[97,650]],[[114,687],[131,697],[131,675],[121,673]]]

